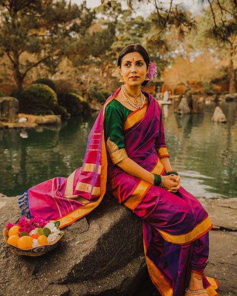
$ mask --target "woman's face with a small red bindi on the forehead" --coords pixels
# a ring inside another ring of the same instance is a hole
[[[143,56],[137,51],[124,55],[119,69],[124,82],[130,86],[140,85],[149,71]]]

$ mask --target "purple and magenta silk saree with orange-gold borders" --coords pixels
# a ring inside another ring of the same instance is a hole
[[[190,269],[203,273],[212,223],[200,203],[184,188],[173,194],[136,178],[114,165],[106,151],[105,102],[89,135],[83,166],[68,178],[55,177],[19,196],[23,212],[57,219],[61,228],[89,213],[106,190],[142,218],[149,275],[163,296],[183,296]],[[160,157],[168,156],[161,109],[152,95],[124,122],[126,152],[145,169],[164,173]],[[217,295],[214,279],[203,277],[209,296]]]

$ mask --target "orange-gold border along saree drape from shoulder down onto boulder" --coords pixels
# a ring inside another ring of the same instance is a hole
[[[103,121],[104,121],[104,115],[105,115],[105,107],[111,100],[114,99],[114,97],[111,97],[105,104],[103,108]],[[72,224],[76,220],[82,218],[89,212],[91,212],[99,203],[101,202],[102,198],[104,197],[105,190],[106,190],[106,181],[107,181],[107,154],[106,154],[106,147],[105,147],[105,139],[104,139],[104,128],[102,132],[102,147],[101,147],[101,153],[102,153],[102,163],[101,163],[101,177],[100,177],[100,196],[96,201],[87,203],[85,205],[82,205],[80,208],[75,209],[74,211],[70,212],[69,214],[57,219],[60,221],[59,228],[63,228],[67,225]]]

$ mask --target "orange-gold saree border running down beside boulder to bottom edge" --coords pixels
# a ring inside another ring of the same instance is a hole
[[[147,249],[145,240],[143,237],[144,254],[146,258],[146,264],[149,271],[149,276],[162,296],[173,296],[173,288],[163,273],[156,267],[154,262],[147,256]]]

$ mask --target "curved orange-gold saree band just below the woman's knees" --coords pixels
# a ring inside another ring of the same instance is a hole
[[[197,224],[191,231],[184,234],[170,234],[163,230],[157,229],[160,235],[168,242],[176,244],[187,244],[199,238],[212,228],[213,224],[210,217],[207,216],[199,224]]]

